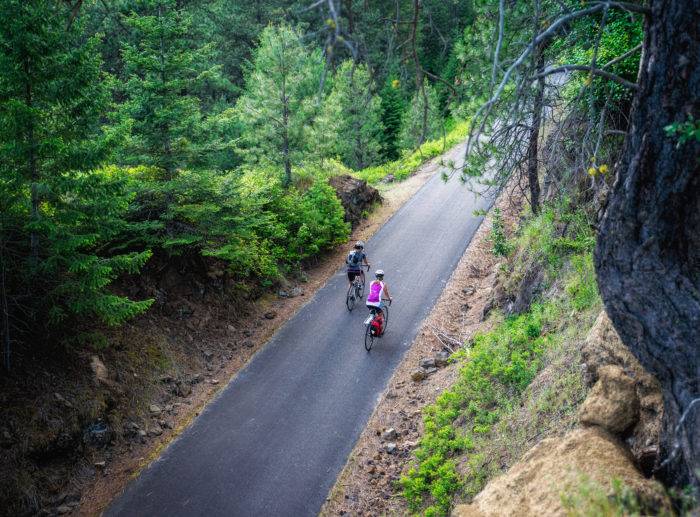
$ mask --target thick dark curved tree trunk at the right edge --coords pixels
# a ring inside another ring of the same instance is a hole
[[[700,0],[656,0],[639,91],[595,262],[625,344],[661,382],[657,471],[700,482],[700,142],[665,127],[700,116]]]

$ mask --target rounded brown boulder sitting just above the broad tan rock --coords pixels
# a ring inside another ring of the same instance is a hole
[[[634,380],[619,366],[598,370],[599,379],[579,410],[584,425],[599,425],[611,433],[624,433],[639,419],[639,398]]]

